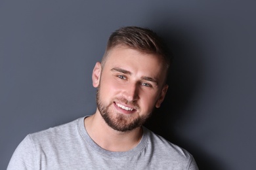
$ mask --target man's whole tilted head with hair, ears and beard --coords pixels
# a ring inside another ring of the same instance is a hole
[[[102,63],[93,70],[97,109],[117,131],[140,127],[167,92],[169,61],[148,29],[123,27],[110,36]]]

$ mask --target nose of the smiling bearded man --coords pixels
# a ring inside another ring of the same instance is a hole
[[[137,83],[127,84],[124,95],[128,101],[137,101],[139,99],[139,85]]]

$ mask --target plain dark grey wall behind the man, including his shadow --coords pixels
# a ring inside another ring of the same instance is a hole
[[[28,133],[95,112],[91,73],[121,26],[175,59],[146,126],[200,169],[255,169],[255,1],[0,1],[0,169]]]

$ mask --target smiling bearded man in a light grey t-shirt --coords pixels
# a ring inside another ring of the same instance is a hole
[[[165,97],[168,67],[155,33],[118,29],[93,69],[95,114],[28,135],[7,169],[198,169],[186,150],[142,126]]]

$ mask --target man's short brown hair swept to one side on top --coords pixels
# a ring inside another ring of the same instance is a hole
[[[108,52],[116,46],[127,46],[145,54],[160,56],[165,61],[167,69],[169,68],[170,59],[167,55],[167,48],[160,37],[150,29],[131,26],[121,27],[114,31],[108,39],[108,44],[102,58],[102,66],[104,66]]]

